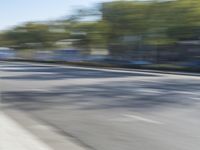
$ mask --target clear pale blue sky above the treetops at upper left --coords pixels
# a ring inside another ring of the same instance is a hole
[[[46,21],[112,0],[0,0],[0,30],[28,21]]]

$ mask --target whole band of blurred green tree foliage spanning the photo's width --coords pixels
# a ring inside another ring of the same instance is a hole
[[[83,17],[95,15],[101,19],[81,21]],[[124,42],[123,37],[131,36],[138,39],[132,41],[136,44],[169,45],[179,40],[198,39],[199,16],[199,0],[113,1],[99,8],[79,10],[62,20],[62,26],[51,23],[18,26],[0,34],[0,45],[26,47],[35,43],[40,47],[53,47],[58,40],[74,38],[79,39],[78,46],[105,47]],[[63,32],[56,31],[63,26]]]

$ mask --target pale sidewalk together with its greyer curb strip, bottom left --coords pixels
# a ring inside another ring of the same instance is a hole
[[[0,150],[86,150],[74,139],[56,133],[24,113],[9,110],[6,114],[0,110]]]

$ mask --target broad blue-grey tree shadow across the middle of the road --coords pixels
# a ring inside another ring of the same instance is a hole
[[[54,87],[49,91],[4,92],[3,102],[30,111],[66,106],[82,110],[152,109],[161,106],[190,106],[199,102],[198,83],[109,82],[109,84]]]

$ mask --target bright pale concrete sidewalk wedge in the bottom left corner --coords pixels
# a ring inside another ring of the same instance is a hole
[[[0,150],[52,150],[0,112]]]

